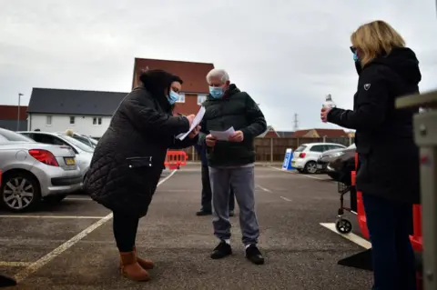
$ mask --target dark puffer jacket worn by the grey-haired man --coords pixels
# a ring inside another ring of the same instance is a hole
[[[226,131],[233,126],[235,131],[240,130],[244,135],[242,142],[217,141],[213,148],[207,147],[208,165],[248,165],[255,162],[253,141],[267,130],[267,123],[250,95],[232,84],[222,98],[208,95],[202,105],[206,110],[200,124],[202,145],[211,130]]]

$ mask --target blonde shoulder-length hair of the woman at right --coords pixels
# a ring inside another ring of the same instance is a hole
[[[404,47],[402,36],[388,23],[377,20],[361,25],[351,35],[352,45],[361,53],[361,65],[381,54],[390,54],[394,47]]]

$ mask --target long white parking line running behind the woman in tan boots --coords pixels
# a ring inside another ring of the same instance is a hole
[[[168,178],[173,176],[176,173],[176,171],[177,170],[173,170],[166,178],[159,181],[158,186],[162,185],[163,183],[168,181]],[[64,253],[66,250],[68,250],[73,245],[76,245],[80,240],[82,240],[84,237],[86,237],[86,235],[91,234],[98,227],[107,223],[107,221],[110,220],[111,218],[112,218],[112,213],[103,217],[102,219],[98,220],[93,225],[88,226],[85,230],[83,230],[79,234],[73,236],[71,239],[66,241],[66,243],[59,245],[52,252],[48,253],[47,255],[44,255],[43,257],[41,257],[40,259],[38,259],[36,262],[32,263],[31,265],[28,265],[23,271],[21,271],[17,275],[15,275],[15,280],[18,283],[25,280],[26,277],[28,277],[29,275],[38,271],[41,267],[43,267],[44,265],[46,265],[47,263],[49,263],[50,261],[55,259],[56,256]]]

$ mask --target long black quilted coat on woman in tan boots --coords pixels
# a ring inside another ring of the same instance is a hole
[[[168,148],[198,142],[197,138],[175,139],[188,131],[188,119],[172,116],[169,105],[163,108],[160,101],[144,87],[134,89],[121,102],[97,144],[85,189],[114,212],[146,215]]]

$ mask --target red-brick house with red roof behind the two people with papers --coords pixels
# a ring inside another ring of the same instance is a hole
[[[182,115],[197,114],[200,105],[209,94],[206,76],[213,68],[213,64],[207,63],[136,58],[132,88],[137,87],[139,75],[147,69],[162,69],[173,75],[178,75],[184,84],[174,113]]]

